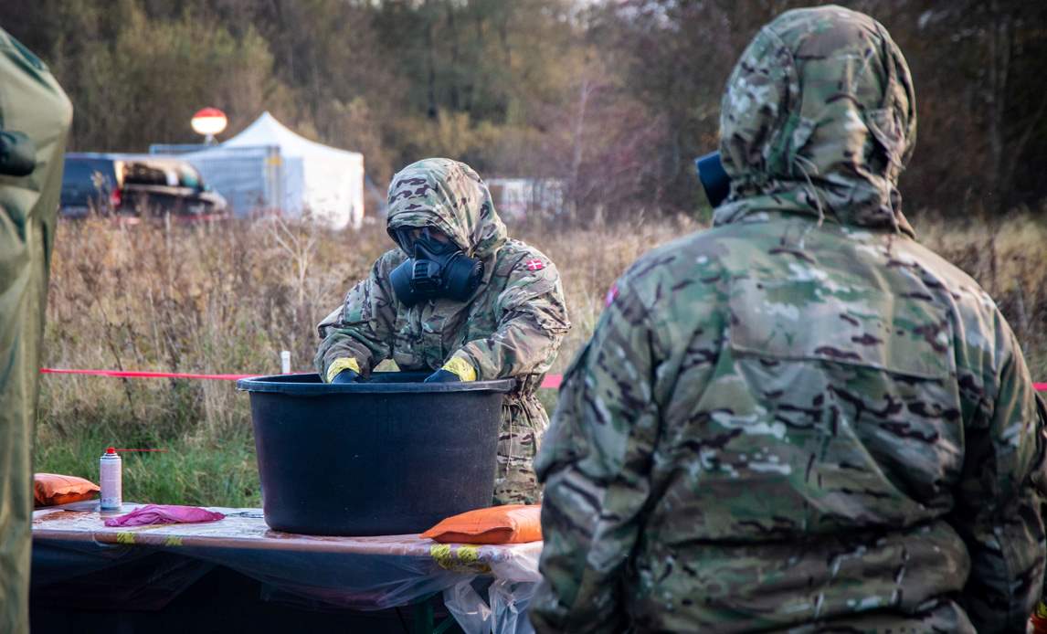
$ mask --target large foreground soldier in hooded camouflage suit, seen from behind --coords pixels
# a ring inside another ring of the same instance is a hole
[[[636,263],[536,460],[540,631],[1024,631],[1043,423],[993,300],[916,243],[916,111],[882,25],[765,26],[715,226]]]

